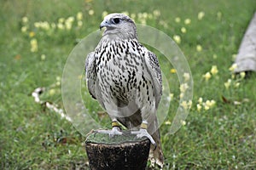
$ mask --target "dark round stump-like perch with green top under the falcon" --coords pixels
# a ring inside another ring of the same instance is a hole
[[[110,138],[106,133],[91,132],[85,148],[92,170],[143,170],[147,167],[150,141],[137,139],[135,134],[123,131],[123,135]]]

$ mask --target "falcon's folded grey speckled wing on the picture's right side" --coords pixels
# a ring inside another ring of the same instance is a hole
[[[158,104],[162,95],[162,75],[158,59],[154,53],[146,48],[145,63],[154,83],[155,92],[155,107],[158,108]]]

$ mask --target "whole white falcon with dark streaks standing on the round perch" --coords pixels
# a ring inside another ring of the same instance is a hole
[[[162,95],[162,77],[154,53],[137,40],[137,28],[125,14],[108,14],[100,25],[102,39],[85,60],[87,88],[112,120],[112,130],[122,135],[120,124],[137,138],[151,141],[150,160],[163,167],[163,152],[156,111]],[[150,35],[148,35],[150,36]]]

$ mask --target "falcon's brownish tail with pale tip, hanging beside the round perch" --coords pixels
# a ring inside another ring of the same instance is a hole
[[[150,147],[150,153],[149,153],[149,160],[151,161],[151,166],[155,166],[158,165],[161,168],[164,165],[164,155],[163,155],[163,151],[161,148],[161,143],[160,143],[160,132],[159,130],[156,130],[153,134],[152,134],[152,138],[154,139],[154,142],[157,144],[156,148],[154,148],[154,145],[151,144]]]

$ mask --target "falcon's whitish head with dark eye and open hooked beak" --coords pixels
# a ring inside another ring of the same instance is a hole
[[[103,36],[120,39],[137,38],[134,21],[125,14],[108,14],[102,21],[100,29],[102,27],[106,27]]]

